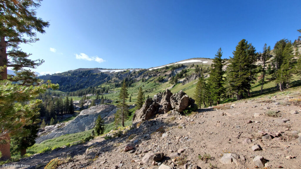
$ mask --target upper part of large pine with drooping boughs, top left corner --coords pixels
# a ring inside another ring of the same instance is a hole
[[[7,67],[13,67],[16,76],[12,81],[23,80],[23,84],[33,84],[37,81],[34,72],[24,69],[36,68],[44,60],[30,60],[27,54],[20,50],[19,45],[33,43],[39,40],[36,33],[45,33],[45,28],[49,22],[36,17],[36,8],[41,1],[23,0],[23,1],[1,1],[0,13],[0,80],[8,79]],[[8,59],[11,58],[11,59]]]

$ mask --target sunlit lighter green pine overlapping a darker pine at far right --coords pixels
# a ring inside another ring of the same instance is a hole
[[[280,68],[277,71],[276,81],[280,84],[279,88],[282,91],[282,88],[286,86],[289,88],[290,78],[292,77],[292,58],[293,58],[293,45],[291,42],[288,42],[282,53],[283,61]]]

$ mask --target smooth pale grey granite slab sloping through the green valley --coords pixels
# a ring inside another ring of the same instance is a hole
[[[91,130],[95,126],[95,121],[98,115],[104,119],[105,123],[114,121],[113,115],[117,108],[114,105],[97,105],[80,112],[78,116],[72,121],[64,125],[57,124],[47,134],[42,134],[36,138],[36,143],[41,143],[44,140],[60,137],[65,134],[79,133],[86,130]],[[49,128],[49,127],[45,127]]]

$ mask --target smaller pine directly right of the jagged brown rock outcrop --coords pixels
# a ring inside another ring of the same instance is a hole
[[[201,74],[201,77],[197,81],[197,86],[196,86],[195,91],[194,91],[195,102],[196,102],[196,104],[199,108],[201,108],[202,104],[204,104],[204,106],[206,107],[206,104],[205,104],[205,98],[206,98],[205,88],[206,88],[206,83],[205,83],[204,75]]]

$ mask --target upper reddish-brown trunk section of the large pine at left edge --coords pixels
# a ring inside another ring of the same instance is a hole
[[[0,37],[0,66],[5,66],[7,64],[7,54],[6,54],[6,42],[5,37]],[[0,80],[7,79],[7,68],[3,67],[0,72]]]

